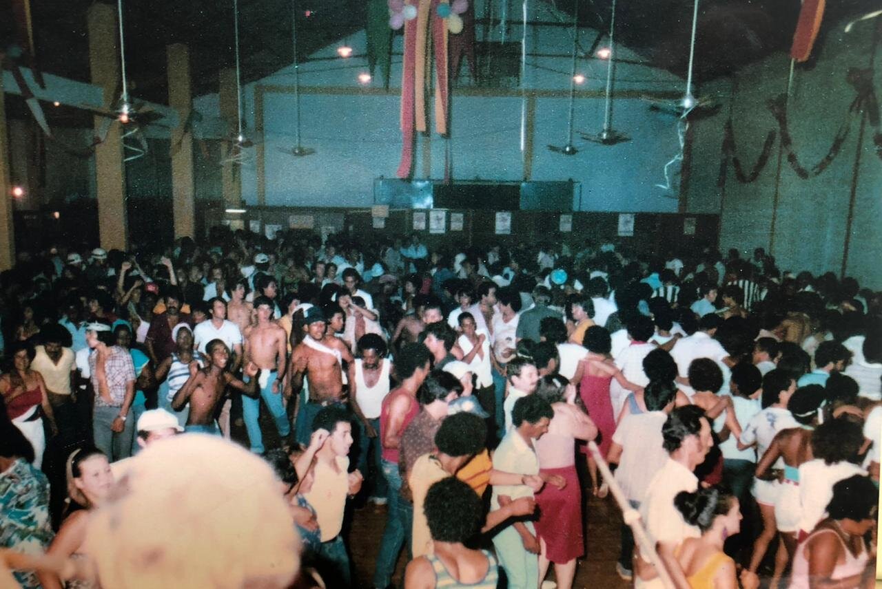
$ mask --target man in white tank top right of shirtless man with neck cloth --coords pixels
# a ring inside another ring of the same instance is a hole
[[[383,400],[389,394],[389,374],[392,362],[386,355],[386,344],[376,334],[365,334],[358,340],[358,357],[349,364],[349,407],[355,413],[358,426],[358,469],[365,477],[363,489],[370,491],[370,501],[386,503],[386,482],[380,467],[380,412]],[[373,468],[368,468],[368,453],[373,446]]]

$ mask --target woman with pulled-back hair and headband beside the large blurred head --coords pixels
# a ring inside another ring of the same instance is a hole
[[[107,456],[95,447],[74,450],[67,459],[66,474],[68,515],[46,554],[76,560],[84,556],[80,550],[86,538],[89,512],[108,498],[114,480]],[[43,589],[92,589],[97,586],[79,579],[63,585],[62,580],[51,572],[40,572],[38,576]]]

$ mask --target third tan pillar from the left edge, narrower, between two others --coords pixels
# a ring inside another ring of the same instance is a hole
[[[183,43],[169,45],[168,106],[176,109],[177,129],[171,133],[171,193],[175,214],[175,239],[196,237],[196,204],[193,184],[193,129],[187,129],[192,107],[190,50]]]

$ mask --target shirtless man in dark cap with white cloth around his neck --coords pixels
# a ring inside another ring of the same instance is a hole
[[[295,436],[296,441],[309,445],[312,434],[312,420],[318,412],[328,405],[346,403],[346,392],[343,388],[343,362],[353,362],[352,352],[339,337],[327,333],[325,313],[316,306],[306,312],[306,337],[291,354],[291,366],[288,373],[288,387],[285,396],[295,398]],[[309,385],[309,400],[300,406],[300,389],[303,377]]]

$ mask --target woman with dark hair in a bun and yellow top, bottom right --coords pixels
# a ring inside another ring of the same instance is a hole
[[[738,500],[719,487],[690,493],[681,491],[674,497],[677,510],[690,526],[701,530],[699,538],[687,538],[676,549],[691,589],[735,589],[735,561],[722,551],[723,542],[741,528]]]

